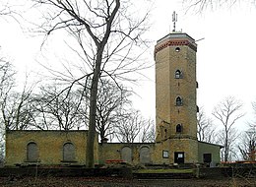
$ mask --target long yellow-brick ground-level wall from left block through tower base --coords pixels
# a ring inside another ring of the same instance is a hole
[[[6,133],[6,165],[30,164],[27,160],[27,145],[36,143],[39,151],[39,164],[67,164],[63,162],[63,145],[73,143],[76,149],[76,162],[70,164],[85,165],[86,131],[7,131]],[[211,153],[215,162],[220,162],[220,146],[209,145],[188,139],[166,139],[160,143],[107,143],[95,146],[96,163],[104,164],[107,159],[122,159],[121,150],[132,149],[132,164],[140,163],[140,150],[148,147],[152,164],[171,164],[175,152],[185,153],[186,163],[203,162],[203,154]],[[199,147],[199,149],[198,149]],[[199,152],[197,151],[199,150]],[[162,152],[167,151],[168,157]]]

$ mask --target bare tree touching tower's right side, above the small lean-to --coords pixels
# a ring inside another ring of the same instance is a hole
[[[216,127],[213,120],[206,116],[203,107],[200,108],[197,114],[197,136],[199,141],[216,142]]]

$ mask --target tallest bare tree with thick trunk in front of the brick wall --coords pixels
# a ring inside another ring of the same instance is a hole
[[[138,19],[138,15],[133,16],[134,14],[129,13],[130,3],[120,0],[33,1],[43,5],[44,12],[49,11],[41,29],[47,35],[61,29],[76,35],[83,50],[83,59],[90,67],[91,72],[87,71],[85,75],[75,79],[72,85],[92,77],[86,165],[94,167],[96,97],[99,78],[110,76],[115,79],[140,67],[134,63],[136,58],[130,58],[130,55],[135,45],[143,44],[140,41],[142,34],[146,31],[144,23],[148,14]],[[109,63],[112,65],[107,66]]]

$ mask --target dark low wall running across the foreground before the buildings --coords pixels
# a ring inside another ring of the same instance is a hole
[[[3,167],[0,177],[53,176],[53,177],[122,177],[122,178],[161,178],[161,179],[222,179],[224,177],[255,177],[256,168],[207,167],[193,168],[193,172],[138,173],[130,167],[85,168],[85,167]]]

